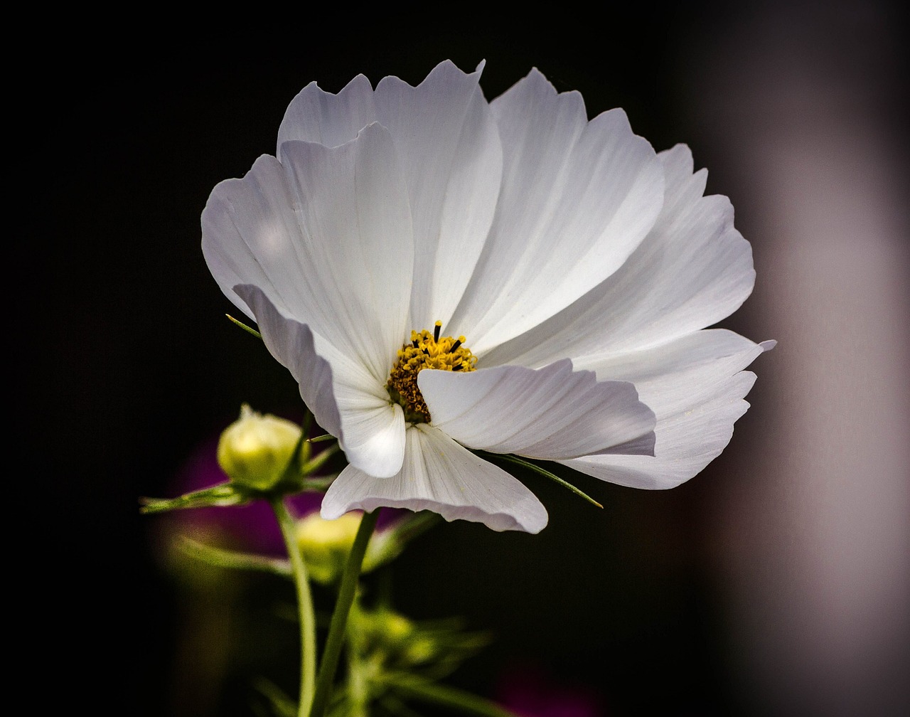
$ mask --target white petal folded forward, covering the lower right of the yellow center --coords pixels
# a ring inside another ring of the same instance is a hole
[[[652,454],[654,414],[625,381],[598,382],[564,359],[543,369],[424,370],[432,425],[470,449],[567,459]]]

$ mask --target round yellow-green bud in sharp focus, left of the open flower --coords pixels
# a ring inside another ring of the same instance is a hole
[[[262,415],[245,403],[218,440],[218,464],[235,483],[269,490],[288,468],[300,432],[296,423]]]

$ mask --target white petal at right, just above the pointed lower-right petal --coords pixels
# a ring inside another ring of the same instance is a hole
[[[688,147],[659,157],[667,198],[642,246],[571,307],[491,351],[487,365],[542,366],[563,356],[607,357],[647,348],[710,326],[740,307],[755,272],[752,247],[733,228],[733,207],[726,197],[702,196],[706,175],[693,175]]]

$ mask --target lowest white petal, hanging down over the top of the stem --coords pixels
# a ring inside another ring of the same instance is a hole
[[[426,424],[408,429],[404,466],[378,479],[349,466],[329,486],[322,517],[379,507],[433,510],[446,520],[471,520],[492,530],[540,532],[547,511],[521,481]]]

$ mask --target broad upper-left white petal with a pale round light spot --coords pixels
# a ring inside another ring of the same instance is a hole
[[[288,141],[218,185],[203,252],[229,298],[254,284],[381,381],[404,339],[413,242],[407,189],[388,132],[332,149]]]

